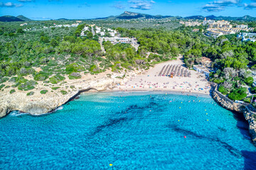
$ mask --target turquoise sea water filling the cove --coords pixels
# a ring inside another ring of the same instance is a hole
[[[256,169],[256,147],[243,116],[212,98],[85,94],[2,118],[0,169]]]

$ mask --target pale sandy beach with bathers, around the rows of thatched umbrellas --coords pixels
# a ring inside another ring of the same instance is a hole
[[[184,63],[181,57],[177,60],[156,64],[155,67],[137,76],[132,76],[124,84],[115,86],[114,91],[182,91],[183,93],[210,94],[210,84],[206,80],[205,74],[188,70],[190,77],[159,76],[159,72],[165,65],[178,65],[184,70]]]

